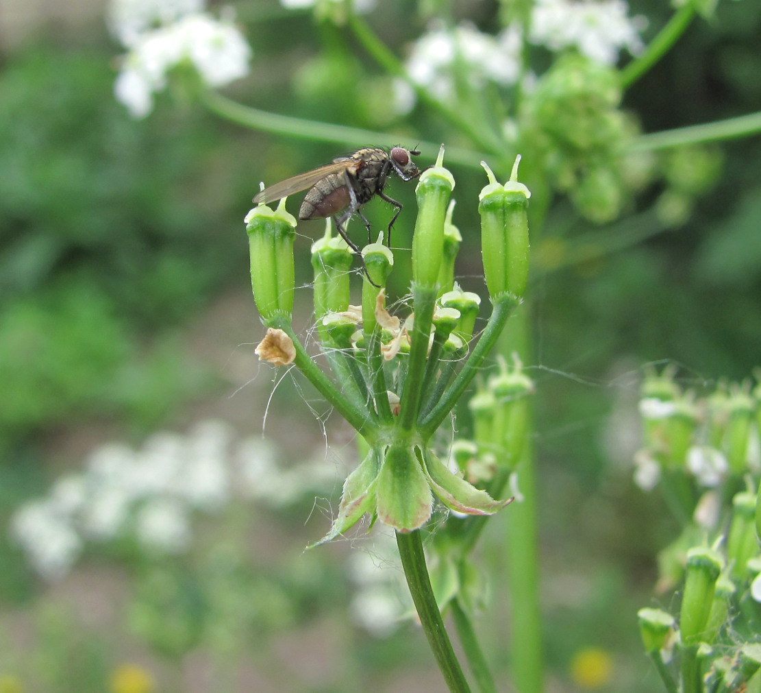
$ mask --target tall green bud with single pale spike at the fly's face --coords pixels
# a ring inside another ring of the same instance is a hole
[[[428,289],[434,289],[438,283],[444,255],[444,220],[454,189],[454,177],[442,166],[443,161],[444,145],[441,145],[436,165],[423,171],[415,189],[418,218],[412,236],[412,281]]]

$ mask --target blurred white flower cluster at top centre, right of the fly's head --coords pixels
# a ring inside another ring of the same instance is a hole
[[[406,62],[409,78],[424,86],[440,101],[454,96],[454,68],[458,61],[468,75],[470,87],[480,89],[487,81],[501,86],[514,85],[521,74],[521,34],[508,28],[498,36],[482,34],[470,22],[447,29],[439,21],[431,23]],[[397,109],[404,113],[415,104],[412,88],[396,80]]]

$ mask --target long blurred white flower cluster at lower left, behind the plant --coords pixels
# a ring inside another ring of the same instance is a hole
[[[11,537],[44,579],[64,577],[88,541],[134,538],[146,551],[178,554],[193,541],[194,512],[218,511],[237,495],[284,505],[307,490],[330,487],[335,470],[304,464],[282,470],[263,439],[234,444],[221,421],[198,423],[187,436],[155,433],[135,450],[110,443],[67,474],[46,497],[21,506]]]

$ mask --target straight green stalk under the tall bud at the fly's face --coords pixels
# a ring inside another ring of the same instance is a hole
[[[398,426],[412,430],[418,417],[422,388],[425,379],[425,361],[428,357],[428,339],[431,334],[433,311],[436,305],[436,286],[413,286],[415,321],[412,323],[412,346],[409,349],[409,366],[404,380]]]

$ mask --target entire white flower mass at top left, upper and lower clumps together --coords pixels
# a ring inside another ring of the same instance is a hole
[[[209,87],[248,74],[251,48],[231,16],[218,20],[203,8],[204,0],[113,0],[110,27],[129,49],[114,93],[132,117],[151,112],[177,65],[192,65]]]

